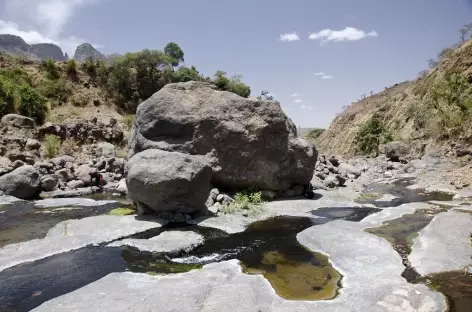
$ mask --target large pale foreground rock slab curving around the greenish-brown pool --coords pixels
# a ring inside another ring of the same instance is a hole
[[[280,298],[262,275],[241,272],[237,260],[166,276],[112,273],[52,299],[36,312],[55,311],[445,311],[442,294],[401,277],[400,256],[384,239],[348,221],[333,221],[298,234],[311,250],[329,254],[343,276],[337,298],[289,301]],[[176,293],[184,294],[176,300]]]

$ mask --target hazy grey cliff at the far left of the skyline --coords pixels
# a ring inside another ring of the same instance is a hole
[[[30,60],[53,59],[64,61],[66,58],[61,48],[52,43],[27,44],[21,37],[0,35],[0,51]]]

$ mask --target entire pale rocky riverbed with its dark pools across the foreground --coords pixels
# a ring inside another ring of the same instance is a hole
[[[420,173],[366,170],[313,199],[178,224],[106,215],[125,200],[2,196],[0,303],[5,311],[470,311],[472,202]]]

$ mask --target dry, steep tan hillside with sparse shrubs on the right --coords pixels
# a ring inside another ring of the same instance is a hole
[[[348,106],[317,140],[324,153],[360,154],[356,136],[373,116],[413,154],[449,150],[472,143],[472,40],[443,50],[434,66],[414,81],[402,82]]]

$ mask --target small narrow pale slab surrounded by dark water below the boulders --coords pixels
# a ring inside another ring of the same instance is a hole
[[[142,251],[178,253],[189,252],[203,244],[203,236],[194,232],[169,231],[150,239],[124,239],[108,247],[130,246]]]

